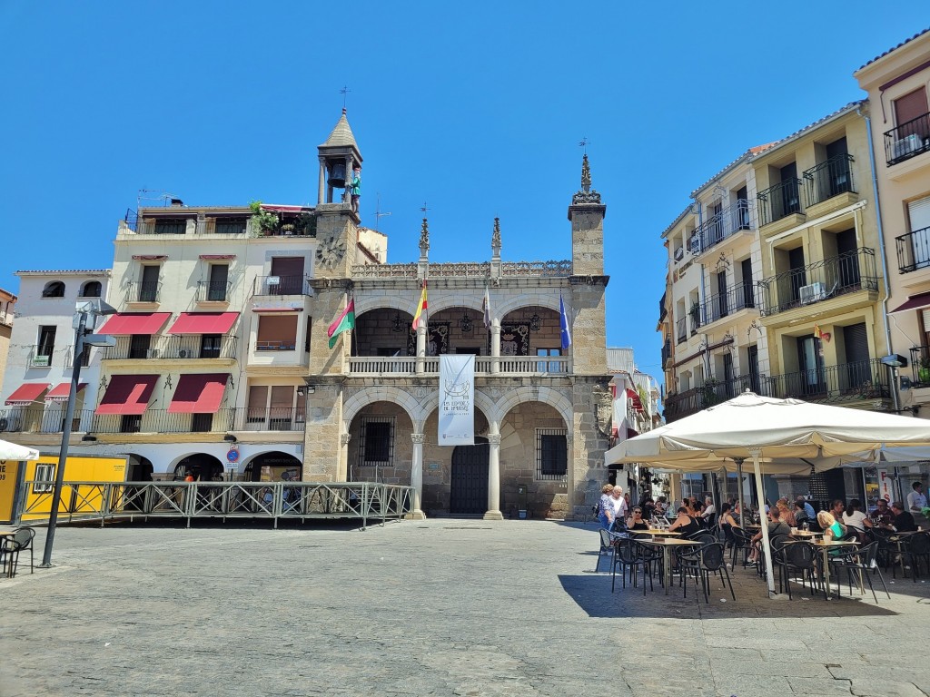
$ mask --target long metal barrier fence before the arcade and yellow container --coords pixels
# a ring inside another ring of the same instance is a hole
[[[25,482],[23,521],[45,519],[53,481]],[[59,524],[134,517],[361,519],[384,524],[412,511],[413,487],[373,481],[66,481]]]

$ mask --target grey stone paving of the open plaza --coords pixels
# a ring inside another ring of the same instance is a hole
[[[611,594],[597,547],[533,520],[61,527],[55,568],[0,580],[0,697],[930,693],[930,584]]]

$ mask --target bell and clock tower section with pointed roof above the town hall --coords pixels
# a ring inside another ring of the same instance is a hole
[[[313,275],[349,278],[352,264],[355,263],[361,217],[352,210],[347,186],[352,180],[352,169],[362,166],[362,153],[352,135],[345,109],[329,138],[316,150],[320,160],[320,174]],[[343,191],[337,192],[339,189]]]

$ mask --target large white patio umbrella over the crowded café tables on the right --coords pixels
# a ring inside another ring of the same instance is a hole
[[[623,441],[604,462],[658,463],[684,471],[738,467],[751,459],[756,488],[764,491],[761,464],[771,472],[830,469],[882,448],[930,445],[930,422],[800,400],[760,397],[749,391]],[[768,528],[762,526],[768,589],[775,592]]]

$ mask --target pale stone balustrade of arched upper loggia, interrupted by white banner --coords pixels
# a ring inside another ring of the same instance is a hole
[[[420,359],[423,374],[439,373],[439,358]],[[352,356],[349,372],[353,375],[415,375],[418,359],[413,356]],[[495,369],[497,368],[497,369]],[[474,371],[482,375],[567,375],[567,356],[475,356]]]

